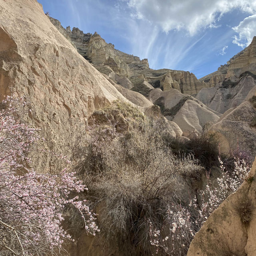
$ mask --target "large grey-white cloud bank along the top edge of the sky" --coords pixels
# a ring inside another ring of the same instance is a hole
[[[185,29],[190,35],[202,28],[214,28],[223,14],[239,8],[254,14],[256,1],[251,0],[126,0],[132,16],[148,20],[168,33]]]

